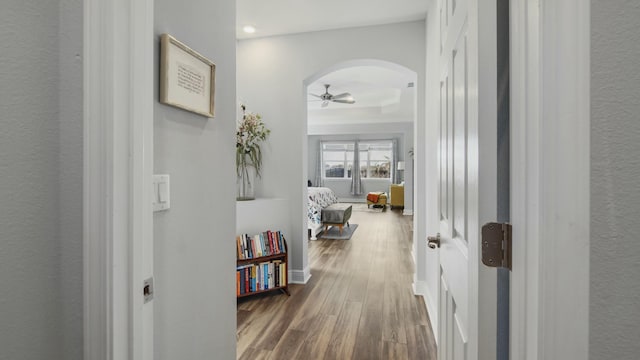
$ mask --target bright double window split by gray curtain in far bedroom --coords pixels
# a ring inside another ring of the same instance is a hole
[[[355,142],[322,143],[325,179],[350,179],[353,169]],[[360,177],[363,179],[391,179],[393,142],[367,141],[358,144]]]

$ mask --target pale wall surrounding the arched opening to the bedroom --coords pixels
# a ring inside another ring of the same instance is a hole
[[[347,60],[378,59],[424,78],[424,22],[275,36],[238,42],[238,97],[272,130],[256,194],[287,198],[292,270],[307,269],[306,94],[303,82]],[[418,84],[418,99],[423,97]],[[418,102],[418,118],[422,118]]]

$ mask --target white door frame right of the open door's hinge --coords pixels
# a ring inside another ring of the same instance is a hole
[[[588,359],[590,5],[511,1],[511,358]]]

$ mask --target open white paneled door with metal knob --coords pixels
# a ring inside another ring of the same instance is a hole
[[[495,1],[492,3],[495,13]],[[485,358],[492,351],[486,351],[483,348],[486,344],[481,342],[495,342],[495,336],[480,334],[495,331],[495,327],[479,325],[483,321],[479,314],[483,310],[479,309],[495,308],[496,305],[487,304],[486,298],[480,299],[478,290],[479,272],[484,271],[479,267],[479,228],[480,221],[488,215],[480,216],[480,209],[483,199],[491,197],[483,194],[491,184],[481,173],[495,172],[495,168],[481,167],[486,164],[483,157],[495,156],[495,151],[491,154],[490,150],[482,149],[487,141],[495,143],[495,139],[484,136],[487,130],[484,127],[494,126],[485,121],[495,121],[485,119],[487,113],[483,112],[491,106],[491,101],[487,102],[491,95],[481,93],[487,85],[481,82],[490,78],[486,72],[491,72],[491,61],[481,58],[486,49],[479,49],[483,37],[490,38],[492,28],[489,25],[481,31],[480,26],[487,22],[484,18],[479,21],[478,6],[489,5],[482,0],[440,0],[439,3],[438,216],[441,245],[430,251],[440,252],[439,319],[438,329],[434,330],[438,332],[438,358],[441,360]],[[493,36],[495,39],[495,30]],[[494,160],[488,162],[491,161]],[[485,303],[480,304],[480,301]]]

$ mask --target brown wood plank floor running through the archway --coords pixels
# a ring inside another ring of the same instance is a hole
[[[238,301],[239,359],[436,359],[414,296],[412,223],[354,204],[350,240],[309,241],[311,280]]]

